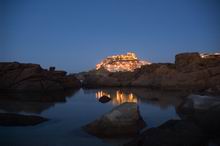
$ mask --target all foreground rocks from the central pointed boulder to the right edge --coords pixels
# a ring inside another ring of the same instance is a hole
[[[131,140],[125,142],[124,146],[209,146],[210,142],[219,145],[219,97],[191,94],[175,104],[175,110],[179,118],[148,128],[140,115],[138,104],[127,102],[83,129],[103,139],[130,136]]]

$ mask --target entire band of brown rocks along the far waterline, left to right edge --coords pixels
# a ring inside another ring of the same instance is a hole
[[[81,82],[82,84],[81,84]],[[0,63],[0,90],[53,91],[96,87],[147,87],[165,90],[220,92],[220,55],[182,53],[175,63],[152,63],[134,71],[110,72],[105,68],[66,75],[38,64]]]

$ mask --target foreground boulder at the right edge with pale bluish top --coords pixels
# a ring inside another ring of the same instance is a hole
[[[191,95],[177,107],[179,116],[196,123],[211,136],[220,136],[220,98]]]

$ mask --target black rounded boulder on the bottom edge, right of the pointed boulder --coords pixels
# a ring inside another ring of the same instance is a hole
[[[125,146],[205,146],[201,130],[193,123],[169,120],[150,128]]]

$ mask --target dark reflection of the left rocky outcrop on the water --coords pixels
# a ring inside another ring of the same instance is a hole
[[[77,90],[50,93],[1,93],[0,112],[40,114],[56,103],[66,102],[66,98],[73,96],[76,91]]]

